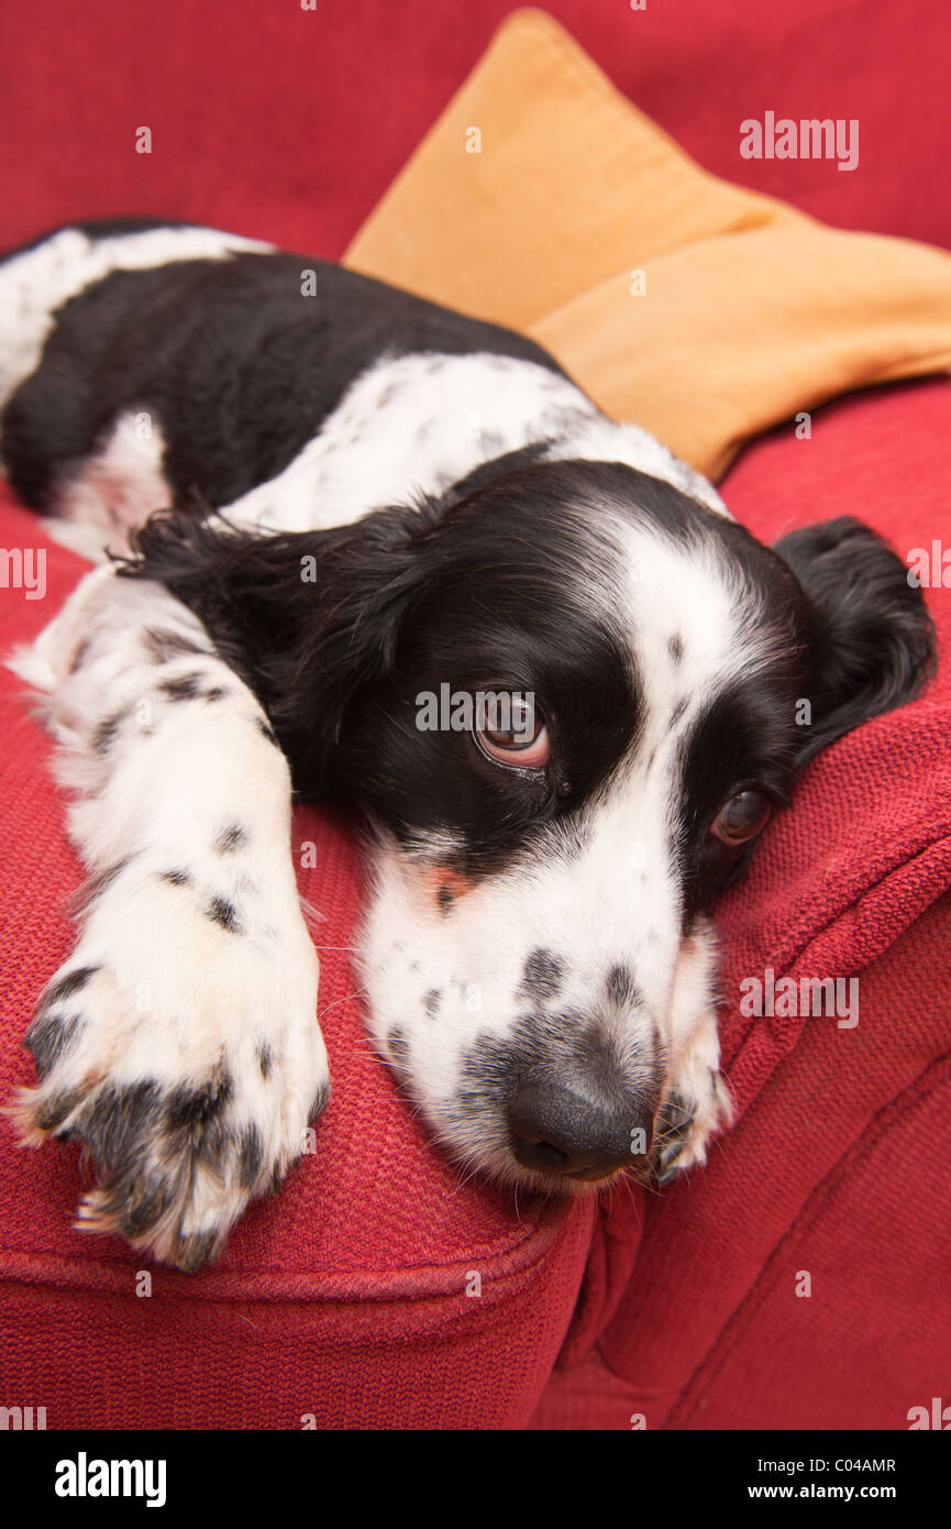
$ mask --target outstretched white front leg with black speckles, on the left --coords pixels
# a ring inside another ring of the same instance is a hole
[[[90,573],[14,667],[47,691],[92,870],[26,1044],[24,1138],[83,1139],[78,1225],[194,1269],[329,1096],[290,777],[252,693],[159,584]]]

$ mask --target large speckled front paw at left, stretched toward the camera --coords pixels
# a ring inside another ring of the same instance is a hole
[[[24,1141],[78,1138],[99,1173],[76,1226],[196,1269],[277,1188],[324,1109],[316,954],[295,908],[240,916],[194,875],[118,875],[40,998]]]

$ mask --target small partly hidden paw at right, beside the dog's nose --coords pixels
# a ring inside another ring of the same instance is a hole
[[[716,1020],[703,1026],[677,1069],[654,1131],[653,1173],[657,1183],[706,1162],[712,1136],[732,1121],[732,1101],[719,1070]]]

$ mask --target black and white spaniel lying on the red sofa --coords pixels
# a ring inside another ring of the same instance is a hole
[[[362,810],[367,1021],[459,1159],[702,1162],[705,910],[923,682],[899,558],[855,520],[764,547],[538,346],[213,229],[49,234],[0,330],[11,483],[118,555],[17,659],[92,879],[15,1113],[90,1148],[80,1225],[193,1269],[324,1109],[295,797]],[[443,687],[462,729],[420,725]]]

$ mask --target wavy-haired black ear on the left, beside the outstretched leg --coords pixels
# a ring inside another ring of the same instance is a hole
[[[164,509],[131,534],[119,572],[156,579],[200,618],[268,713],[295,789],[320,795],[347,706],[393,665],[436,514],[420,500],[329,531],[261,535]]]

